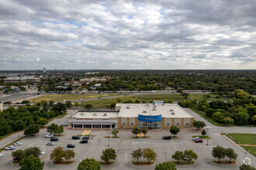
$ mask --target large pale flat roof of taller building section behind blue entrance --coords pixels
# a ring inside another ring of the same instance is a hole
[[[116,104],[121,107],[119,117],[138,117],[138,114],[145,116],[162,115],[167,118],[191,118],[186,110],[178,104]]]

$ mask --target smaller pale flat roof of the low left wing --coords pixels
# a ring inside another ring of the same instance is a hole
[[[118,117],[119,111],[117,110],[78,110],[71,114],[69,117],[76,117],[77,119],[109,119],[113,117]]]

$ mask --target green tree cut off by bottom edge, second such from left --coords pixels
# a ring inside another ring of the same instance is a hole
[[[79,163],[78,170],[101,170],[101,166],[94,158],[86,158]]]

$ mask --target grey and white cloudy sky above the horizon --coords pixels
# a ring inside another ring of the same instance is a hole
[[[255,0],[0,0],[0,70],[255,69]]]

